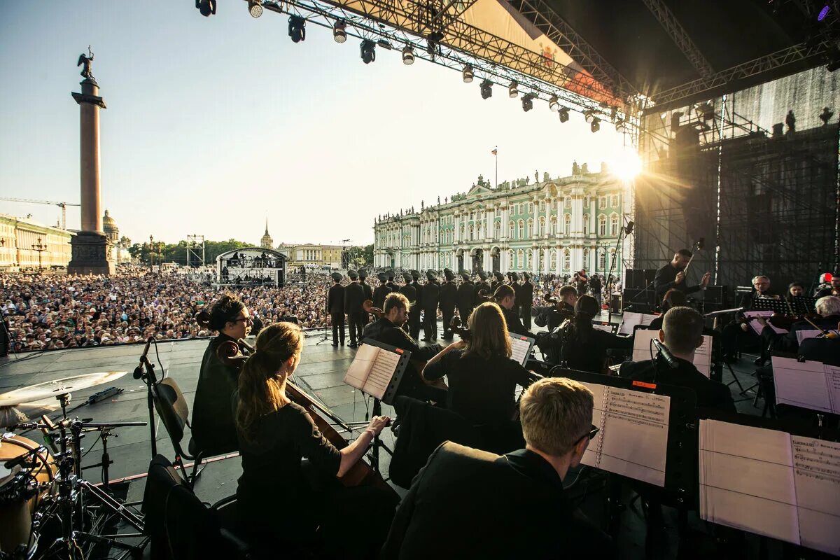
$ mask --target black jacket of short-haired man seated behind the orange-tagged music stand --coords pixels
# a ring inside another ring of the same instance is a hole
[[[735,412],[729,387],[708,379],[689,361],[676,358],[678,367],[670,369],[662,358],[642,362],[624,362],[619,375],[634,381],[678,385],[693,390],[697,395],[697,406],[717,411]]]

